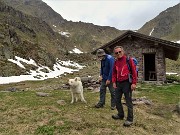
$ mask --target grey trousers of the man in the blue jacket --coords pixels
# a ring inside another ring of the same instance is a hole
[[[115,90],[113,88],[112,82],[106,86],[106,81],[102,80],[101,86],[100,86],[100,101],[99,104],[105,105],[105,99],[106,99],[106,87],[109,88],[110,94],[111,94],[111,107],[115,107]]]

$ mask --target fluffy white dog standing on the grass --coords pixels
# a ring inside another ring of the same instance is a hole
[[[80,77],[75,77],[74,79],[69,79],[69,85],[72,95],[72,101],[71,104],[74,103],[74,99],[76,99],[76,102],[78,101],[78,97],[81,97],[81,101],[86,103],[86,100],[83,96],[83,86],[81,82]]]

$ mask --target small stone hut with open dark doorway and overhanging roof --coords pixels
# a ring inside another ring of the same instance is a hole
[[[113,55],[115,46],[122,46],[127,55],[138,60],[138,81],[164,82],[166,80],[165,58],[177,60],[180,44],[127,31],[101,46],[107,54]],[[98,49],[100,49],[98,48]],[[96,53],[96,50],[92,52]]]

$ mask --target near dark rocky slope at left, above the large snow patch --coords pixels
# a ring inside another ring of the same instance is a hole
[[[56,58],[65,53],[64,38],[55,33],[43,20],[24,14],[0,2],[0,75],[24,73],[7,61],[19,56],[34,59],[37,63],[52,67]],[[52,53],[53,52],[53,53]]]

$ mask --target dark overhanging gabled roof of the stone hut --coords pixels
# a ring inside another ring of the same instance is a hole
[[[154,43],[157,44],[161,44],[164,48],[164,52],[165,52],[165,57],[172,59],[172,60],[177,60],[179,57],[179,52],[180,52],[180,44],[178,43],[174,43],[171,41],[167,41],[167,40],[163,40],[163,39],[159,39],[159,38],[155,38],[152,36],[147,36],[141,33],[137,33],[134,31],[127,31],[124,34],[120,35],[119,37],[115,38],[114,40],[111,40],[110,42],[106,43],[105,45],[101,46],[98,49],[106,49],[114,44],[116,44],[117,42],[120,42],[121,40],[127,38],[127,37],[137,37],[137,38],[141,38],[144,40],[148,40],[148,41],[152,41]],[[96,50],[94,50],[92,53],[95,54]]]

